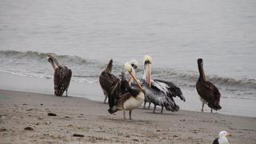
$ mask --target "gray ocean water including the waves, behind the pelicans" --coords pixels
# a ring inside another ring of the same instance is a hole
[[[222,98],[256,102],[256,1],[0,1],[0,71],[52,78],[49,53],[73,70],[72,81],[86,83],[98,83],[110,58],[116,75],[137,59],[142,78],[149,54],[152,77],[176,83],[185,97],[196,93],[203,58]]]

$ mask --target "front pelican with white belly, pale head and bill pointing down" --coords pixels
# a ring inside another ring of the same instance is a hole
[[[124,79],[125,74],[122,73],[121,84],[116,82],[110,90],[110,109],[108,111],[110,114],[113,114],[118,110],[123,110],[123,118],[126,119],[126,110],[129,110],[129,116],[131,119],[132,110],[136,109],[138,106],[141,106],[142,102],[144,102],[145,90],[142,89],[142,86],[138,82],[137,78],[134,76],[134,74],[132,74],[132,66],[130,66],[130,63],[126,62],[125,69],[134,78],[135,82],[137,82],[139,90],[136,88],[131,88],[129,83]]]

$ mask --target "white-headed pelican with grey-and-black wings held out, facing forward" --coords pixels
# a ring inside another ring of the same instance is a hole
[[[152,58],[149,55],[144,57],[144,76],[142,79],[142,87],[146,90],[146,99],[154,103],[155,113],[156,106],[166,107],[166,110],[178,111],[179,106],[174,102],[174,98],[178,96],[182,101],[186,99],[182,95],[182,91],[172,82],[166,82],[158,79],[151,79],[151,63]],[[161,113],[162,113],[161,110]]]

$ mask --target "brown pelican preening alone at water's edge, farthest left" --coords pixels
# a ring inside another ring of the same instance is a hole
[[[67,90],[70,86],[70,79],[72,76],[72,71],[66,66],[62,66],[58,63],[57,59],[52,55],[48,55],[48,62],[54,68],[54,94],[57,96],[62,96],[64,91]]]

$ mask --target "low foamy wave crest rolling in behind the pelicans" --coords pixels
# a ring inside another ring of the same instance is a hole
[[[14,59],[16,61],[22,61],[26,63],[30,63],[31,61],[33,61],[36,63],[41,62],[42,64],[42,62],[43,63],[47,62],[46,58],[48,54],[52,54],[54,57],[56,57],[59,60],[60,63],[66,64],[67,66],[72,67],[74,70],[77,70],[78,73],[74,74],[74,77],[77,77],[77,78],[98,78],[98,74],[101,73],[101,71],[106,67],[106,64],[107,64],[107,62],[97,62],[95,60],[80,58],[75,55],[58,55],[54,53],[40,53],[35,51],[21,52],[21,51],[15,51],[15,50],[3,50],[3,51],[0,51],[0,58],[2,59],[2,62],[5,62],[6,59],[12,62],[11,60]],[[1,59],[0,59],[0,62],[1,62]],[[19,64],[19,63],[16,63],[16,64]],[[36,66],[36,65],[33,65],[33,66]],[[27,69],[29,69],[29,67],[27,67]],[[118,62],[115,62],[113,67],[114,74],[120,74],[122,70],[123,70],[123,65]],[[143,70],[139,68],[138,78],[142,77],[142,74],[143,74]],[[178,71],[173,69],[162,69],[162,68],[153,69],[152,75],[153,75],[153,78],[166,79],[166,80],[178,82],[187,86],[195,86],[195,83],[198,81],[198,77],[199,77],[198,72],[196,71]],[[256,90],[255,79],[224,78],[218,75],[210,75],[207,78],[210,82],[218,86],[225,86],[227,88],[231,88],[231,90],[235,90],[236,88],[238,88],[238,90],[241,90],[241,89]]]

